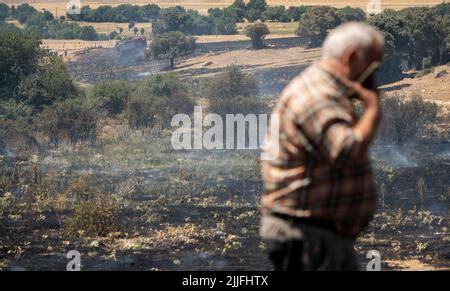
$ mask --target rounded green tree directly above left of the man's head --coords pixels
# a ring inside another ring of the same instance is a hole
[[[301,18],[297,35],[308,37],[310,46],[320,46],[330,29],[342,23],[338,10],[328,6],[318,6],[309,9]]]

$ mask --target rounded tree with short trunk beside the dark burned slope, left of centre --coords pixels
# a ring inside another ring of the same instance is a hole
[[[175,67],[175,58],[188,55],[196,48],[195,38],[182,32],[168,32],[157,35],[150,48],[146,51],[147,57],[155,59],[169,59],[170,67]]]

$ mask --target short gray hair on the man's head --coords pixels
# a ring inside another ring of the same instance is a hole
[[[324,58],[339,58],[348,48],[356,48],[365,58],[375,45],[384,47],[384,36],[374,27],[362,22],[347,22],[333,29],[323,43]]]

